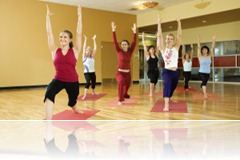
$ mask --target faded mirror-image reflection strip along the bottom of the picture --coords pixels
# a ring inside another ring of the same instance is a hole
[[[240,159],[239,121],[0,121],[0,159]]]

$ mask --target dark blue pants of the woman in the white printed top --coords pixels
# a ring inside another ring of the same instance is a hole
[[[171,98],[178,85],[178,71],[163,69],[162,78],[164,82],[163,97]]]

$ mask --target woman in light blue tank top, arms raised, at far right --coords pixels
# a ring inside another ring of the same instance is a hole
[[[200,49],[200,35],[198,35],[198,61],[199,61],[199,65],[200,65],[200,69],[198,72],[198,76],[200,78],[200,80],[202,81],[201,83],[201,89],[203,92],[203,98],[207,99],[207,82],[208,79],[210,77],[210,72],[211,72],[211,59],[212,59],[212,55],[214,52],[214,48],[215,48],[215,42],[216,42],[216,36],[214,35],[212,37],[212,48],[211,50],[209,50],[208,46],[202,46],[202,48]]]

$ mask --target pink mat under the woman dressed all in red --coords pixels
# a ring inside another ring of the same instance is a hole
[[[117,105],[118,103],[118,98],[115,98],[111,101],[109,101],[105,106],[108,107],[134,107],[139,101],[139,98],[130,98],[130,99],[125,99],[123,101],[123,105],[119,106]]]

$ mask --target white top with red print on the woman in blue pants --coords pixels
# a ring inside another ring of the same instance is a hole
[[[178,50],[173,48],[166,48],[163,53],[163,60],[165,68],[178,68]]]

